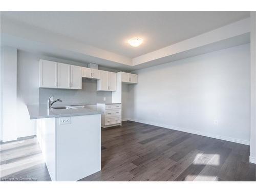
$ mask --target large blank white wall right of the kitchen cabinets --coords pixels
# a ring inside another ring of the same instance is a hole
[[[132,120],[249,144],[250,44],[134,73]]]

